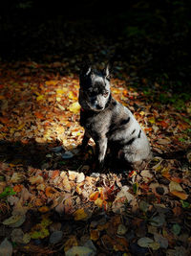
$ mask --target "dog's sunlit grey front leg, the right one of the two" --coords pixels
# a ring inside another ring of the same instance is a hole
[[[107,138],[100,138],[96,141],[96,169],[103,168],[105,153],[107,151]]]

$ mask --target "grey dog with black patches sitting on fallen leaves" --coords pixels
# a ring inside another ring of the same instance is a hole
[[[124,168],[142,170],[152,158],[149,141],[132,112],[110,90],[110,66],[101,71],[85,64],[79,76],[80,125],[85,129],[81,148],[96,143],[96,169],[104,166],[107,149]]]

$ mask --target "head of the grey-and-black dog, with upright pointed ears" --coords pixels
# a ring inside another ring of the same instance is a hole
[[[111,99],[109,65],[96,72],[86,65],[80,73],[79,103],[94,111],[102,111]]]

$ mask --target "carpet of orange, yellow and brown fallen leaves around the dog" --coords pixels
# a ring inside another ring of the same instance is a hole
[[[140,173],[93,175],[94,142],[78,150],[78,78],[47,67],[1,63],[0,254],[188,255],[190,113],[113,79],[159,155]]]

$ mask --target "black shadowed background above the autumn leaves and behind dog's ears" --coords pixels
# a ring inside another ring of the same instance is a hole
[[[84,56],[114,58],[119,78],[157,81],[186,98],[190,7],[189,0],[1,1],[0,59],[68,62],[65,74],[77,73]]]

